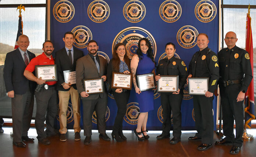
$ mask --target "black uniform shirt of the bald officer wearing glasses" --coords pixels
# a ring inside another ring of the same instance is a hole
[[[232,49],[222,49],[218,58],[220,81],[243,80],[241,91],[247,91],[253,77],[248,52],[234,46]]]

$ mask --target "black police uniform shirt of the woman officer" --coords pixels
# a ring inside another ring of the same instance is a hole
[[[164,58],[159,61],[157,66],[156,75],[178,75],[179,76],[179,90],[183,89],[186,78],[188,77],[187,68],[181,59],[176,57],[171,57],[169,60],[168,58]]]

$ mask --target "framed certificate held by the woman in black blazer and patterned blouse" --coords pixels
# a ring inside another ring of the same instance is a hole
[[[112,72],[111,88],[132,89],[132,74]]]

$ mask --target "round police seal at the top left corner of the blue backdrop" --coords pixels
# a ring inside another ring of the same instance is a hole
[[[60,0],[53,7],[53,15],[59,22],[69,22],[75,15],[74,5],[70,1]]]

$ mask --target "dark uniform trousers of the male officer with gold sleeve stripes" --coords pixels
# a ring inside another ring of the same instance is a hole
[[[202,143],[213,143],[213,97],[193,96],[195,125],[197,137],[202,138]]]

